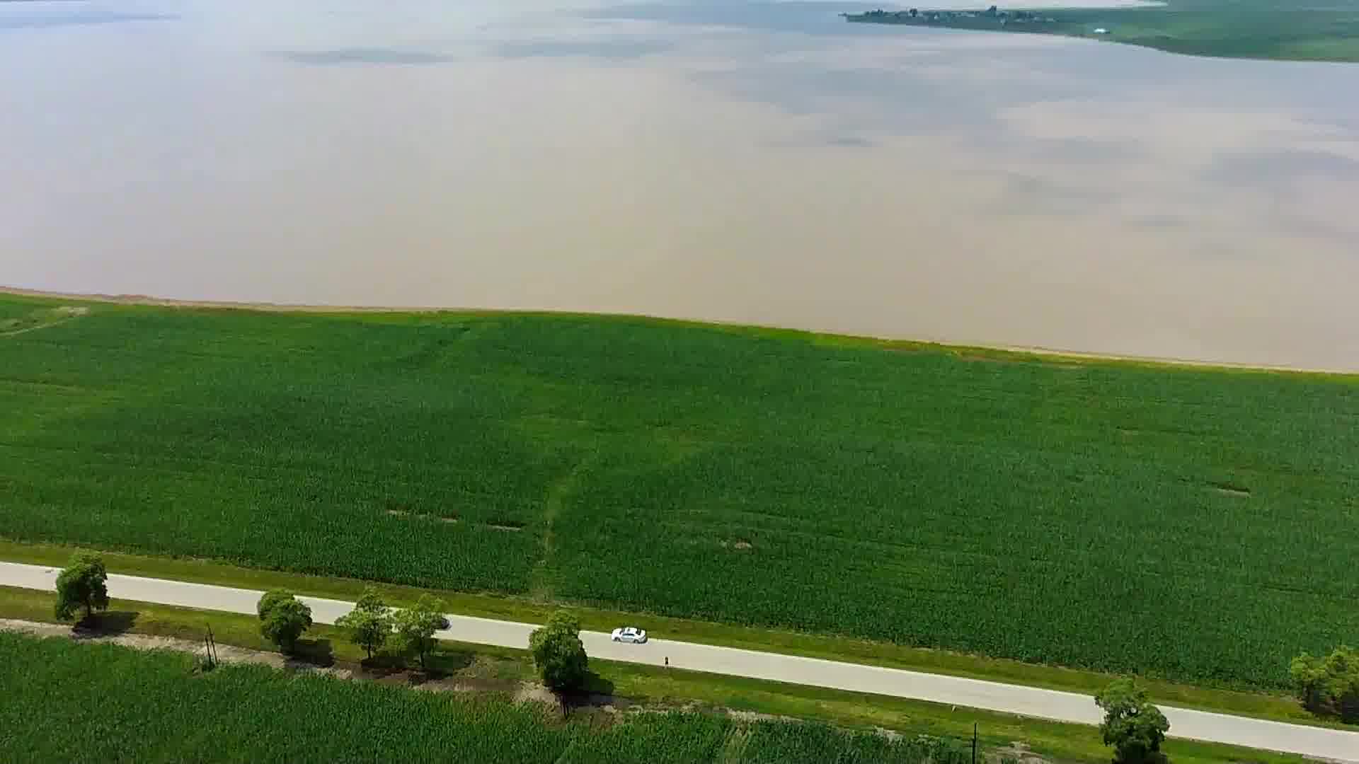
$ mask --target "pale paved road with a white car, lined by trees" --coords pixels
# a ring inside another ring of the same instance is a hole
[[[56,589],[56,568],[0,563],[0,585],[52,591]],[[121,600],[253,616],[261,593],[202,583],[110,575],[109,594]],[[352,602],[337,600],[318,597],[300,597],[300,600],[311,606],[313,620],[322,624],[333,624],[336,619],[353,608]],[[519,648],[529,644],[529,632],[535,628],[534,624],[467,616],[448,616],[448,623],[450,627],[439,632],[442,639]],[[637,625],[646,627],[646,624]],[[586,651],[593,658],[655,666],[670,658],[670,665],[680,669],[911,697],[1060,722],[1099,723],[1099,712],[1094,700],[1087,695],[1074,692],[667,639],[652,639],[647,644],[617,644],[606,633],[580,632],[580,640],[584,642]],[[1359,733],[1169,706],[1162,706],[1161,710],[1170,720],[1173,737],[1302,753],[1359,764]]]

